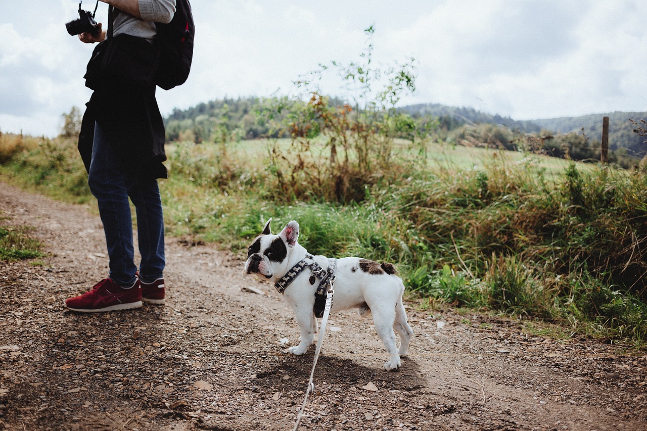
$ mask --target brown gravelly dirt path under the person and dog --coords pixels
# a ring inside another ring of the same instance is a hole
[[[286,353],[291,310],[241,256],[168,238],[166,305],[84,315],[63,301],[107,275],[98,216],[0,182],[0,217],[34,227],[47,252],[45,265],[0,262],[0,429],[294,427],[314,346]],[[647,430],[645,353],[450,308],[407,312],[415,337],[399,372],[382,368],[370,319],[331,316],[300,429]]]

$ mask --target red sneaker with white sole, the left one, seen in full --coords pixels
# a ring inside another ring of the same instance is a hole
[[[130,289],[124,289],[113,280],[104,278],[91,291],[65,301],[67,308],[82,313],[127,310],[142,306],[142,289],[139,280]]]

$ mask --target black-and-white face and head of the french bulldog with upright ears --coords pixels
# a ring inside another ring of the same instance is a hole
[[[297,245],[299,223],[292,220],[278,235],[272,235],[270,223],[272,219],[265,223],[263,232],[247,249],[245,272],[267,279],[281,278],[289,269],[289,258]]]

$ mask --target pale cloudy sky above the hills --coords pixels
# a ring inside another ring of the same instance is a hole
[[[94,10],[95,1],[83,8]],[[320,64],[415,59],[399,106],[473,107],[515,120],[647,111],[647,8],[640,0],[192,0],[188,81],[157,90],[162,115],[238,96],[298,94]],[[69,36],[78,0],[0,0],[0,131],[54,137],[85,109],[94,45]],[[99,3],[96,21],[105,23]],[[327,94],[344,96],[338,82]]]

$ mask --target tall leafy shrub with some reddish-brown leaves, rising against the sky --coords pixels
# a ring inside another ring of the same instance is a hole
[[[270,151],[274,199],[360,202],[371,186],[392,184],[415,172],[419,159],[395,160],[395,139],[410,136],[415,129],[408,115],[395,111],[400,94],[415,89],[413,66],[376,69],[371,60],[373,28],[366,34],[369,43],[360,61],[347,66],[333,61],[297,82],[303,95],[309,95],[307,103],[286,104],[280,99],[266,107],[271,113],[288,109],[287,115],[267,118],[281,118],[276,124],[279,135],[289,133],[292,139],[289,148],[274,146]],[[330,71],[356,89],[352,100],[340,102],[323,95],[318,82]],[[380,83],[382,89],[376,89]]]

